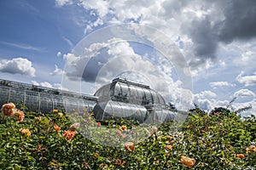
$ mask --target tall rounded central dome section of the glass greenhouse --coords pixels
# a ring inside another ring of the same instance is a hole
[[[149,86],[131,82],[125,78],[113,79],[95,96],[97,104],[93,109],[96,120],[112,117],[133,119],[138,122],[164,122],[173,119],[175,112],[168,110],[163,97]]]

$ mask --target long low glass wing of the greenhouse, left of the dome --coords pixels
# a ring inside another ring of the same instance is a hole
[[[27,111],[49,113],[54,109],[92,111],[96,96],[45,88],[22,82],[0,80],[0,105],[15,103],[26,105]]]

